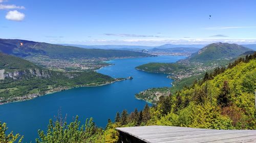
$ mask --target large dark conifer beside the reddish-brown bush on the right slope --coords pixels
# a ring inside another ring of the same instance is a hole
[[[229,103],[229,90],[228,82],[224,81],[221,94],[218,97],[218,104],[221,105],[221,107],[226,107]]]

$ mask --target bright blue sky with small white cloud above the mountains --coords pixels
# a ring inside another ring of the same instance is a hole
[[[256,1],[0,0],[0,38],[86,45],[250,44],[256,43]]]

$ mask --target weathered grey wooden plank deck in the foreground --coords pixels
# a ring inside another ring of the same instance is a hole
[[[213,130],[172,126],[116,129],[142,142],[256,142],[256,130]]]

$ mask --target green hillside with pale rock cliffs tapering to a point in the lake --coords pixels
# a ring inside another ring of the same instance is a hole
[[[0,52],[0,104],[32,99],[79,86],[112,83],[114,79],[94,71],[60,72]]]

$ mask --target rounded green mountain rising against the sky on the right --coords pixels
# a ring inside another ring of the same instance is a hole
[[[251,49],[238,44],[212,43],[189,57],[189,61],[202,62],[218,59],[232,59]]]

